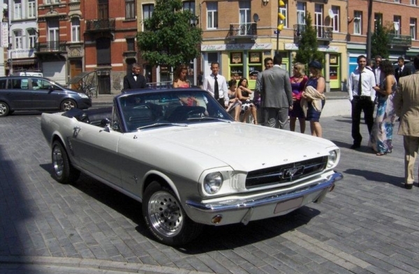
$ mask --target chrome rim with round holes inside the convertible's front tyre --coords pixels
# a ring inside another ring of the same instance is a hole
[[[161,236],[172,237],[182,230],[184,217],[177,199],[168,192],[155,192],[149,199],[148,215]]]

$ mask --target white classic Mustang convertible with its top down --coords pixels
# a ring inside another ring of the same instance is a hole
[[[207,91],[129,91],[113,107],[42,114],[53,175],[80,172],[142,203],[167,245],[203,225],[247,224],[320,202],[342,175],[339,148],[318,137],[233,121]]]

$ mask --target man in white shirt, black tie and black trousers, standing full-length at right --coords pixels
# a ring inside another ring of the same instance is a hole
[[[367,58],[364,55],[358,56],[358,68],[348,77],[348,95],[352,105],[352,137],[351,149],[358,149],[361,146],[362,136],[360,134],[361,112],[364,112],[365,123],[368,132],[371,134],[374,124],[374,100],[376,91],[376,77],[374,73],[365,68]]]

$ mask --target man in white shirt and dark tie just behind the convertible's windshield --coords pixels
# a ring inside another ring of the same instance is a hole
[[[212,96],[222,105],[228,107],[228,87],[226,78],[223,75],[219,75],[219,63],[211,63],[212,74],[205,77],[203,83],[203,89],[209,91]]]

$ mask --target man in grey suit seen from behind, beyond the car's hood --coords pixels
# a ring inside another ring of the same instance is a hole
[[[260,90],[265,126],[284,129],[288,121],[288,109],[293,109],[293,91],[288,72],[281,68],[282,57],[274,56],[274,66],[264,70]]]

